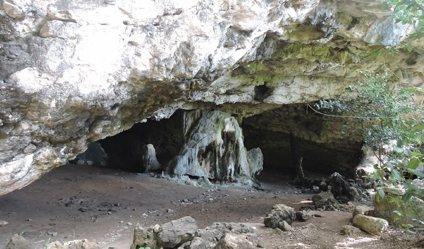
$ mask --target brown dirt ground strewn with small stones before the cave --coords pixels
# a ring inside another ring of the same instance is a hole
[[[307,222],[294,222],[292,232],[266,229],[263,218],[275,204],[295,209],[310,204],[312,194],[299,189],[273,172],[258,179],[267,192],[247,187],[221,185],[195,187],[114,169],[65,165],[45,174],[29,186],[0,196],[0,248],[13,234],[20,234],[44,248],[50,241],[88,239],[101,248],[129,249],[136,223],[163,224],[185,216],[199,228],[214,222],[254,223],[256,234],[267,249],[415,248],[424,231],[405,232],[391,228],[380,238],[364,233],[350,238],[340,234],[352,221],[351,212],[311,211]],[[304,227],[312,223],[315,227]]]

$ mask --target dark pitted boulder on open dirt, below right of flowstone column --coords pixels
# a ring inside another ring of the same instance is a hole
[[[268,228],[278,228],[280,222],[285,221],[291,226],[294,220],[296,220],[296,212],[293,208],[284,204],[277,204],[266,215],[263,223]]]

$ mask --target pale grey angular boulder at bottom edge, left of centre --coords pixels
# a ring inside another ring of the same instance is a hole
[[[158,244],[164,248],[174,248],[191,241],[198,231],[195,219],[190,216],[162,224],[161,228],[157,238]]]

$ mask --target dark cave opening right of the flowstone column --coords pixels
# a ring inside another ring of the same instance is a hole
[[[289,104],[244,118],[241,124],[246,149],[259,147],[264,171],[291,178],[298,165],[304,173],[352,176],[362,158],[362,142],[341,138],[342,124],[307,109]]]

